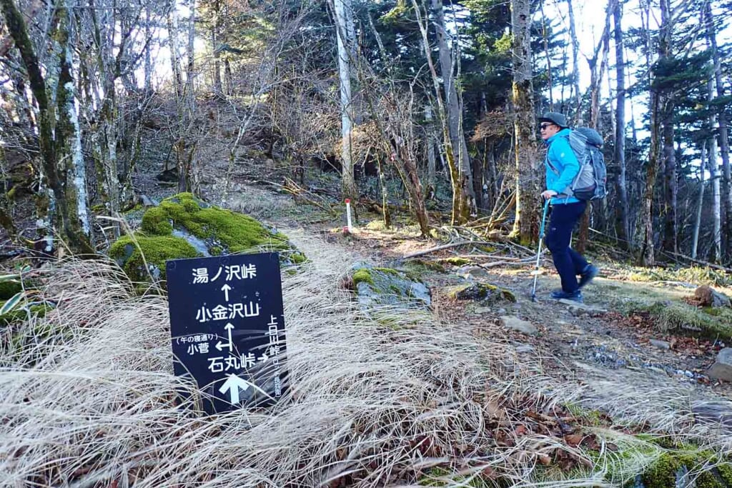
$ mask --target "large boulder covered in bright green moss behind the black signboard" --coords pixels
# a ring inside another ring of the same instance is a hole
[[[307,258],[289,243],[287,236],[234,211],[220,209],[179,193],[143,214],[141,230],[122,236],[109,255],[133,281],[165,279],[165,261],[228,255],[248,249],[280,252],[284,266]]]

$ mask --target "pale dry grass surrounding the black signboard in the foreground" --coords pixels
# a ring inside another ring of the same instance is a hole
[[[584,432],[561,406],[576,388],[427,312],[381,307],[411,327],[381,326],[339,288],[356,258],[295,241],[311,261],[283,274],[291,390],[272,410],[206,417],[195,394],[181,404],[191,386],[172,373],[165,297],[135,296],[102,263],[53,271],[53,334],[26,323],[23,340],[2,342],[3,483],[571,487],[624,473],[605,445],[630,436],[561,438],[562,425]]]

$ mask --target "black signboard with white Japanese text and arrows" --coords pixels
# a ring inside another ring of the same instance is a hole
[[[287,383],[276,252],[168,261],[173,368],[193,377],[203,409],[273,405]]]

